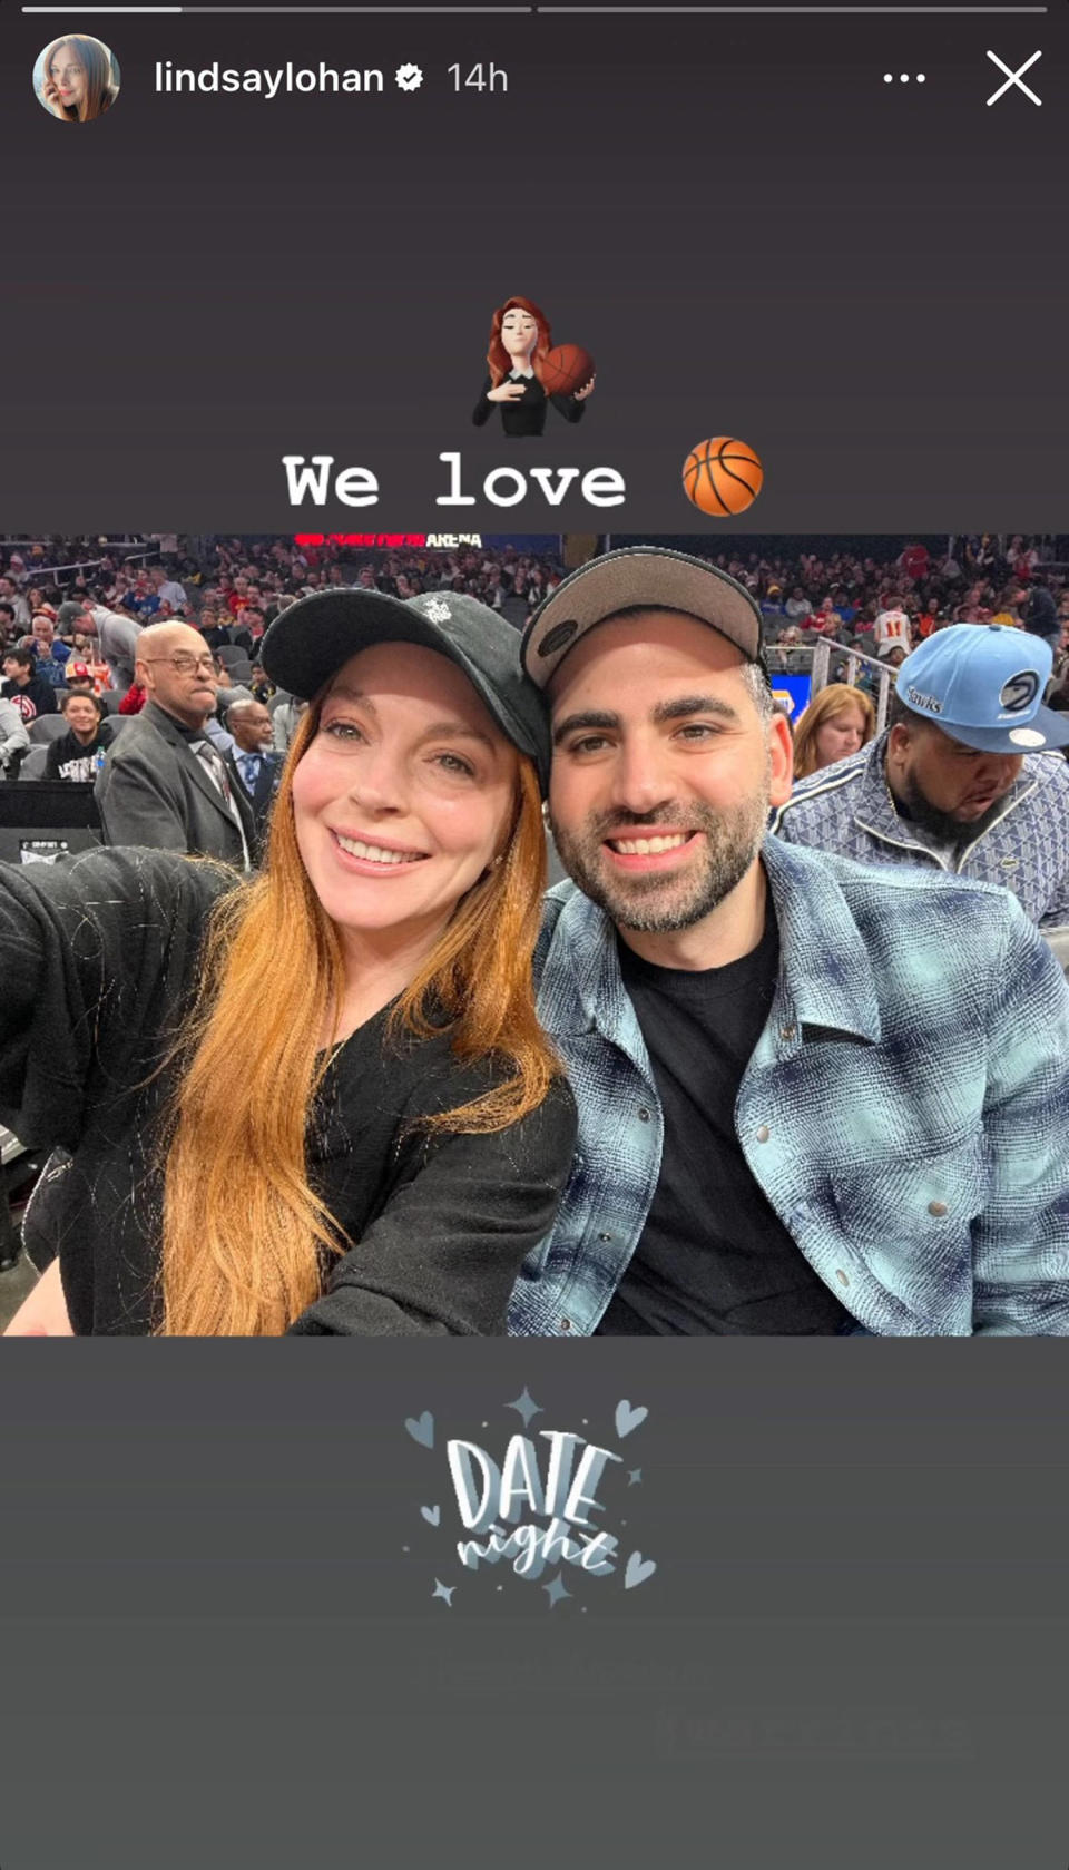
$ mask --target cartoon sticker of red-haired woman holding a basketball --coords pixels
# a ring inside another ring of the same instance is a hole
[[[501,410],[506,436],[540,436],[551,402],[566,423],[579,423],[594,387],[594,359],[581,344],[553,346],[546,312],[533,299],[506,299],[493,312],[486,350],[490,376],[475,404],[477,428]]]

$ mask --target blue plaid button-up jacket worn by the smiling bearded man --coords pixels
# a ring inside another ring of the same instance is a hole
[[[1067,1335],[1069,984],[1047,942],[992,885],[779,838],[763,860],[779,982],[734,1116],[787,1232],[878,1335]],[[534,967],[579,1137],[508,1328],[555,1337],[594,1331],[635,1251],[662,1109],[613,924],[572,883]]]

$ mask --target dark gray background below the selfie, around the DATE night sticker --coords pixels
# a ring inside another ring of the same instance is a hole
[[[11,1341],[0,1863],[1063,1870],[1063,1369],[1050,1341]],[[637,1590],[549,1608],[450,1558],[445,1438],[503,1451],[523,1386],[534,1431],[641,1464],[600,1489],[658,1561]],[[624,1444],[620,1397],[650,1410]]]

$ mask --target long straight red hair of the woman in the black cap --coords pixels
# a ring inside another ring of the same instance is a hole
[[[305,1154],[329,1066],[320,1040],[344,995],[338,935],[312,890],[293,825],[293,770],[318,724],[312,707],[293,737],[265,871],[213,913],[198,1000],[178,1051],[163,1204],[164,1335],[277,1335],[318,1298],[325,1259],[346,1247],[308,1186]],[[460,901],[387,1027],[400,1040],[449,1025],[460,1060],[495,1057],[510,1070],[486,1096],[428,1128],[505,1129],[536,1109],[561,1073],[531,985],[544,886],[538,780],[521,759],[501,862]]]

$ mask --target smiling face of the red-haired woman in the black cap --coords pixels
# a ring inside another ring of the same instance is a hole
[[[467,677],[415,643],[338,669],[293,772],[293,821],[316,896],[344,937],[434,942],[503,851],[518,754]]]

